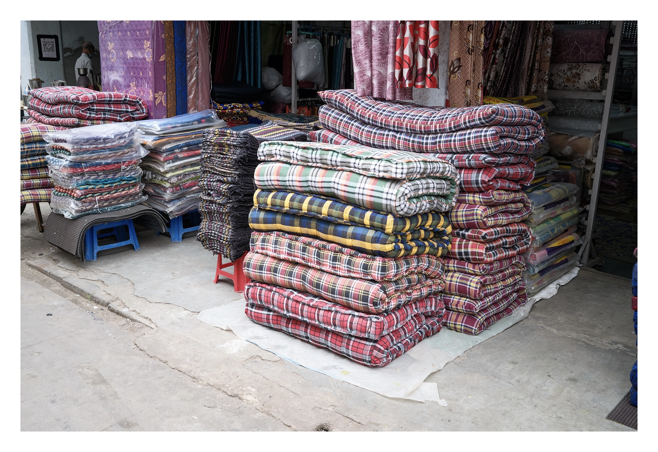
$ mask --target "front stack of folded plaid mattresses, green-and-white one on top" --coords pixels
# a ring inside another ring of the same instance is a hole
[[[457,171],[363,145],[267,141],[244,259],[246,313],[366,366],[443,324]]]

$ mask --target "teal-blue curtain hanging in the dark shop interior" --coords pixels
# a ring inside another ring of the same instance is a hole
[[[261,88],[261,21],[240,20],[234,80]]]

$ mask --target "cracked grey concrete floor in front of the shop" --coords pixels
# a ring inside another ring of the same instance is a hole
[[[44,216],[47,205],[42,204]],[[389,399],[197,320],[238,299],[191,237],[81,263],[21,216],[22,430],[631,430],[605,416],[636,360],[630,281],[582,270],[530,316]],[[52,313],[52,316],[45,314]]]

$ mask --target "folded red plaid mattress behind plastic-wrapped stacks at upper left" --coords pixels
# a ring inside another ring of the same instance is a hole
[[[147,116],[146,105],[136,95],[94,91],[79,86],[31,89],[32,120],[50,126],[82,127],[109,122],[136,121]]]

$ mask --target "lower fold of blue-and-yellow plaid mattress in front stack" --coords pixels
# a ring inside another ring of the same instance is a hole
[[[414,230],[406,234],[384,232],[336,224],[312,216],[257,209],[249,213],[249,226],[262,232],[289,232],[319,238],[350,247],[362,253],[382,257],[408,255],[445,255],[450,243],[449,230]]]

